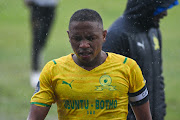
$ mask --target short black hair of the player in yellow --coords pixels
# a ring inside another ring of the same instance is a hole
[[[69,25],[71,24],[71,22],[73,21],[80,21],[80,22],[84,22],[84,21],[90,21],[90,22],[98,22],[100,24],[102,24],[103,27],[103,21],[101,16],[99,15],[98,12],[96,12],[95,10],[92,9],[80,9],[78,11],[76,11],[70,18],[69,21]]]

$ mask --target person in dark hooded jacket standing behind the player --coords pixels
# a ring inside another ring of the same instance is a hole
[[[166,115],[160,19],[177,0],[128,0],[124,14],[109,28],[103,50],[133,58],[147,81],[153,120]],[[129,107],[128,120],[135,120]]]

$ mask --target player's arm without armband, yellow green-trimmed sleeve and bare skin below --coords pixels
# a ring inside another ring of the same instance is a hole
[[[55,102],[51,80],[51,66],[53,64],[52,61],[48,62],[41,72],[36,91],[31,98],[31,108],[28,120],[44,120],[51,104]]]

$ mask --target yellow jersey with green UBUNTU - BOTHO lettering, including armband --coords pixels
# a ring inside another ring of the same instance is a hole
[[[48,62],[43,68],[31,104],[57,104],[62,120],[126,120],[128,103],[146,102],[148,92],[137,63],[107,53],[106,61],[88,71],[78,66],[73,54]]]

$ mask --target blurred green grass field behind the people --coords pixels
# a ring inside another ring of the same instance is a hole
[[[126,0],[61,0],[56,19],[44,49],[46,62],[72,52],[67,30],[71,15],[91,8],[100,13],[104,28],[122,15]],[[163,70],[167,103],[166,120],[180,120],[180,5],[168,10],[161,20]],[[23,0],[0,0],[0,119],[25,120],[29,113],[31,70],[30,11]],[[57,120],[53,105],[46,120]]]

